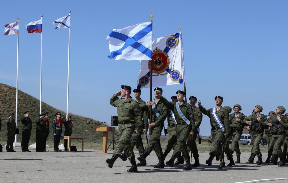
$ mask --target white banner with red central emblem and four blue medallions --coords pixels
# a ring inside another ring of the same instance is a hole
[[[152,86],[181,84],[184,80],[181,32],[159,37],[153,41]],[[150,87],[150,62],[140,60],[141,70],[137,88]]]

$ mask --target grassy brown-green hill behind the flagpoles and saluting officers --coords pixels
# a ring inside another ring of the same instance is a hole
[[[13,112],[15,114],[15,105],[16,105],[16,88],[11,87],[7,84],[0,83],[0,117],[2,122],[2,129],[0,131],[0,143],[4,146],[7,141],[7,125],[6,120],[9,117],[9,113]],[[21,131],[22,131],[22,123],[21,119],[24,117],[23,112],[30,111],[30,119],[32,120],[32,132],[29,145],[35,143],[36,136],[36,121],[39,116],[39,100],[35,97],[18,91],[18,122],[17,126],[19,128],[20,134],[17,135],[17,142],[21,143]],[[52,121],[55,119],[55,113],[60,111],[63,117],[66,117],[66,113],[59,109],[56,109],[44,102],[42,102],[42,111],[49,113],[49,123],[50,123],[50,134],[47,139],[47,145],[50,147],[53,146],[53,131],[52,131]],[[84,148],[85,149],[102,149],[102,133],[96,132],[96,128],[104,126],[104,123],[100,121],[93,120],[91,118],[87,118],[84,116],[69,114],[72,117],[73,121],[73,136],[84,136]],[[63,134],[64,134],[63,127]],[[112,134],[110,134],[112,135]],[[63,143],[61,140],[60,143]],[[76,146],[80,144],[77,140],[72,141],[72,144]],[[80,148],[80,146],[78,145]]]

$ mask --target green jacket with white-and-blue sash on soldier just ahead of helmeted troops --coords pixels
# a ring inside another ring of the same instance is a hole
[[[212,108],[205,110],[205,108],[203,108],[203,106],[201,106],[201,107],[199,107],[199,109],[203,114],[207,115],[210,118],[210,125],[212,128],[213,127],[219,127],[216,120],[214,119],[214,117],[212,115]],[[230,134],[229,112],[226,109],[224,109],[223,107],[221,107],[219,109],[219,111],[216,110],[216,114],[225,127],[225,133],[227,135],[229,135]]]

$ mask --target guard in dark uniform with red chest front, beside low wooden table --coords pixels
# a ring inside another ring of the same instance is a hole
[[[52,129],[54,135],[54,151],[59,152],[59,141],[60,136],[62,136],[62,120],[61,120],[61,113],[58,111],[55,114],[56,119],[52,122]]]

